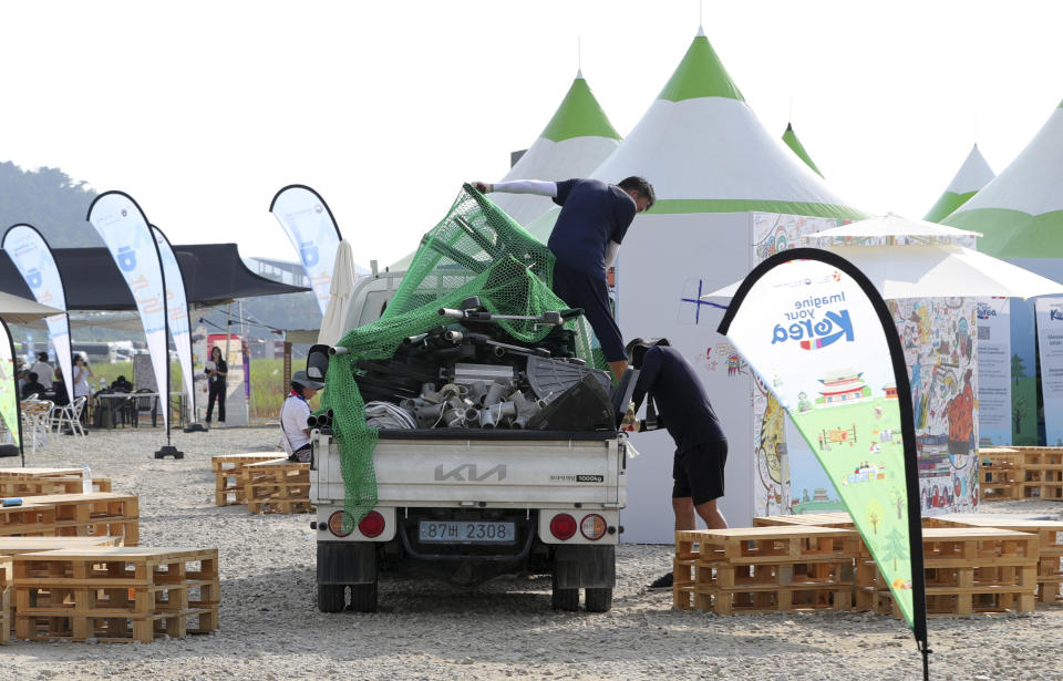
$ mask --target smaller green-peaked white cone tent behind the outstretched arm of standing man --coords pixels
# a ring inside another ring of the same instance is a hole
[[[620,146],[620,134],[601,110],[582,71],[554,117],[520,161],[499,182],[509,179],[561,180],[587,177],[609,154]],[[554,206],[545,196],[534,194],[493,194],[491,200],[522,225]]]

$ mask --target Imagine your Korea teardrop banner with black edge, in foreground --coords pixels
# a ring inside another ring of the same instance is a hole
[[[870,549],[923,658],[927,606],[908,369],[874,285],[816,248],[745,278],[719,332],[786,410]]]

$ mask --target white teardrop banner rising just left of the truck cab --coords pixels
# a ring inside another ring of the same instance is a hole
[[[340,228],[336,226],[329,205],[306,185],[288,185],[274,196],[269,211],[299,252],[323,317],[329,306],[336,250],[340,247]]]

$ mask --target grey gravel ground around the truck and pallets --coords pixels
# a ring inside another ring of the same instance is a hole
[[[876,679],[921,677],[898,620],[868,613],[716,618],[673,610],[644,585],[670,546],[623,545],[612,611],[555,613],[549,579],[462,589],[382,579],[381,611],[323,615],[314,603],[308,515],[252,516],[214,506],[210,456],[270,450],[275,429],[174,434],[183,461],[156,461],[159,431],[54,437],[30,465],[83,465],[141,499],[141,544],[220,549],[221,630],[151,644],[0,647],[0,679]],[[8,460],[11,461],[11,460]],[[662,491],[662,494],[664,492]],[[985,512],[1045,513],[1049,502]],[[932,679],[1063,680],[1063,608],[1026,617],[931,619]]]

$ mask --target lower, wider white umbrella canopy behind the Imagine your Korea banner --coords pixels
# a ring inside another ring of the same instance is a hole
[[[1063,293],[1061,283],[962,246],[829,246],[824,250],[855,265],[886,299]],[[733,297],[741,283],[735,281],[702,298]]]

